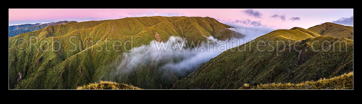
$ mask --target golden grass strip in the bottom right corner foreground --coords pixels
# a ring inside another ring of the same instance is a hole
[[[353,72],[342,74],[330,79],[306,81],[299,84],[271,83],[249,86],[247,83],[239,89],[353,89]]]

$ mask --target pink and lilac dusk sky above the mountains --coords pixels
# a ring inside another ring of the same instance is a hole
[[[211,17],[222,23],[290,29],[324,22],[353,26],[353,9],[9,9],[9,25],[144,16]]]

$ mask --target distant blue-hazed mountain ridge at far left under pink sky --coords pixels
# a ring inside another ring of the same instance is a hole
[[[13,37],[13,36],[19,35],[21,33],[25,33],[25,32],[40,30],[47,26],[59,25],[59,24],[64,24],[64,23],[68,23],[68,21],[51,22],[51,23],[45,23],[45,24],[40,24],[40,25],[34,24],[34,26],[16,28],[14,30],[9,30],[9,37]]]

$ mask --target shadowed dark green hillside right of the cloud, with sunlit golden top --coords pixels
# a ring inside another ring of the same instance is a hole
[[[244,83],[301,83],[351,72],[353,40],[319,35],[338,27],[343,26],[323,24],[308,30],[295,27],[272,31],[210,59],[174,83],[173,89],[238,89]]]

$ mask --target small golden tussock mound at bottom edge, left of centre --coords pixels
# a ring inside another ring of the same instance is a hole
[[[77,90],[109,90],[109,89],[140,90],[140,88],[135,87],[135,86],[119,84],[119,83],[110,82],[110,81],[100,81],[100,83],[91,83],[91,84],[84,85],[84,86],[77,88]]]

